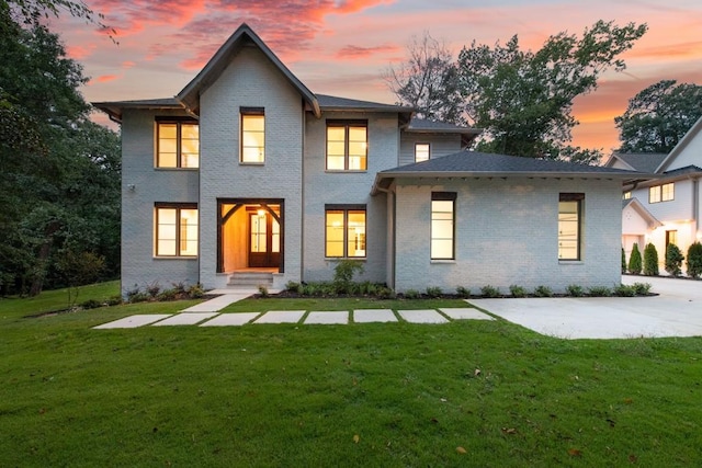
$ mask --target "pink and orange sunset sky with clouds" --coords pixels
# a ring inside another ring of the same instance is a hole
[[[382,76],[428,31],[457,53],[473,41],[492,46],[518,34],[540,48],[551,34],[580,34],[598,20],[647,23],[626,53],[627,69],[608,72],[578,98],[574,145],[609,153],[613,118],[627,100],[661,79],[702,84],[700,0],[87,0],[116,30],[118,45],[81,20],[53,20],[90,82],[89,101],[177,94],[242,23],[248,23],[313,92],[395,102]],[[106,118],[100,117],[105,122]]]

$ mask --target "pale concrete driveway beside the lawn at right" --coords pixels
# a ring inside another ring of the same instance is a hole
[[[702,282],[623,276],[649,283],[650,297],[471,299],[475,307],[563,339],[702,335]]]

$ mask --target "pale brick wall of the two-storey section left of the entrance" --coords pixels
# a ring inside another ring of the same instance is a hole
[[[155,117],[166,111],[125,111],[122,121],[122,293],[158,283],[195,284],[197,259],[154,258],[154,204],[197,203],[197,171],[155,169]],[[134,191],[129,190],[134,185]]]

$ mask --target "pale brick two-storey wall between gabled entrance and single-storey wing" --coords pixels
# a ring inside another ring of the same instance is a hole
[[[367,171],[327,172],[327,119],[367,119]],[[325,205],[366,205],[365,273],[360,279],[386,279],[386,197],[370,195],[375,173],[397,165],[397,114],[327,112],[308,117],[305,137],[305,239],[303,279],[333,277],[336,260],[325,259]]]

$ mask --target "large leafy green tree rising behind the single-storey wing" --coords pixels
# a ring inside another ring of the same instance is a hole
[[[582,36],[561,32],[536,52],[522,50],[518,36],[503,46],[473,42],[458,55],[460,90],[469,122],[484,128],[485,149],[556,159],[578,124],[573,100],[597,89],[618,58],[646,32],[646,24],[620,27],[598,21]]]

